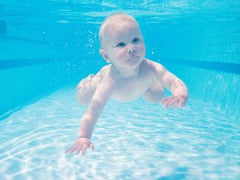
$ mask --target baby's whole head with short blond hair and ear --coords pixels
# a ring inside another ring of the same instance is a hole
[[[100,54],[116,67],[139,65],[145,58],[145,44],[137,21],[123,13],[108,16],[99,31]]]

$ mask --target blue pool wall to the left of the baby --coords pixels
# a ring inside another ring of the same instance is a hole
[[[24,26],[18,32],[14,27],[0,35],[0,119],[61,87],[76,85],[103,63],[88,59],[92,44],[85,36],[91,36],[91,27],[54,24],[34,31]]]

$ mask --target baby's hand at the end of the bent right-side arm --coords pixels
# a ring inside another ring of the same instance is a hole
[[[164,108],[169,106],[175,108],[182,108],[187,102],[187,96],[171,96],[162,101]]]

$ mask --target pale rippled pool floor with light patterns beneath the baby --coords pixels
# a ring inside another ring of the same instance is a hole
[[[109,101],[93,134],[95,151],[64,151],[86,107],[61,89],[0,122],[0,179],[240,179],[240,123],[189,98],[184,109],[143,99]]]

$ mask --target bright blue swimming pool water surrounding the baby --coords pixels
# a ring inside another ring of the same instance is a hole
[[[239,1],[0,3],[0,179],[239,179]],[[139,8],[141,7],[141,8]],[[85,107],[77,82],[96,72],[100,23],[138,20],[147,57],[189,89],[184,109],[110,101],[94,152],[65,155]]]

